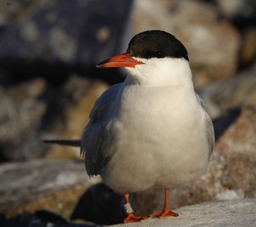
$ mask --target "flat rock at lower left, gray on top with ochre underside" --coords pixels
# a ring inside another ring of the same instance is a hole
[[[84,164],[29,161],[0,165],[0,213],[7,217],[46,209],[69,218],[79,197],[98,182],[89,181]]]

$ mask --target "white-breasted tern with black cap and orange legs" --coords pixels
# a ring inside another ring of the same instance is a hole
[[[125,223],[148,219],[134,214],[129,193],[150,189],[164,189],[164,208],[150,217],[179,216],[169,190],[201,177],[215,144],[187,49],[168,32],[148,30],[97,67],[124,67],[127,77],[98,98],[81,140],[62,144],[80,146],[88,175],[124,195]]]

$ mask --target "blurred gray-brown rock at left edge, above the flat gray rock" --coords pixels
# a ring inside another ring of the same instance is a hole
[[[35,134],[46,105],[39,97],[45,89],[42,79],[0,87],[0,161],[36,157],[38,139]]]

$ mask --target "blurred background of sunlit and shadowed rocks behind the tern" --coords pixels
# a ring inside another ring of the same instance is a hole
[[[172,191],[172,208],[256,197],[255,0],[0,0],[1,226],[121,222],[123,199],[86,176],[79,149],[42,140],[81,136],[94,101],[125,79],[95,65],[145,30],[185,44],[216,131],[207,174]],[[134,210],[161,196],[134,195]]]

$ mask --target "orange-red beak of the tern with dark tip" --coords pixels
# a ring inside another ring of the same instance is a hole
[[[143,62],[139,62],[134,58],[131,58],[129,54],[119,54],[117,56],[113,56],[112,58],[108,58],[100,64],[96,65],[97,68],[101,67],[135,67],[137,64],[145,64]]]

